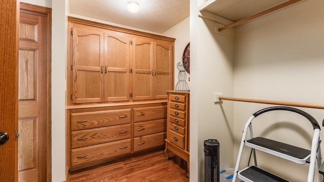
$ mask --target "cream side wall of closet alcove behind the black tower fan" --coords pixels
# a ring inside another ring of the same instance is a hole
[[[233,96],[234,31],[214,33],[220,25],[198,17],[203,3],[190,1],[190,181],[204,181],[208,139],[220,143],[220,169],[233,167],[233,103],[214,104],[213,96]]]

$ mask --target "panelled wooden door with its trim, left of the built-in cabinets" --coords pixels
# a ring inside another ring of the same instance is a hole
[[[36,13],[35,10],[42,13]],[[51,9],[23,3],[20,8],[18,86],[20,182],[47,181],[50,176],[48,174],[48,167],[51,164],[49,156],[51,102],[48,84],[51,74],[50,12]]]

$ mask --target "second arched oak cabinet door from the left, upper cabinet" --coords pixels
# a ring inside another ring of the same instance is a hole
[[[105,33],[105,101],[130,100],[130,36]]]

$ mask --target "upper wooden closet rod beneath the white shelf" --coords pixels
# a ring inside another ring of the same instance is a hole
[[[277,6],[275,6],[275,7],[269,8],[269,9],[267,9],[267,10],[264,10],[264,11],[262,11],[262,12],[260,12],[260,13],[257,13],[257,14],[254,14],[254,15],[251,15],[251,16],[249,16],[249,17],[246,17],[246,18],[243,18],[243,19],[240,19],[240,20],[237,20],[236,22],[234,22],[234,23],[232,23],[232,24],[229,24],[229,25],[226,25],[226,26],[224,26],[224,27],[222,27],[222,28],[219,28],[218,31],[223,31],[223,30],[226,30],[226,29],[228,29],[228,28],[232,28],[232,27],[234,27],[234,26],[237,26],[237,25],[240,25],[240,24],[246,23],[246,22],[251,21],[251,20],[253,20],[253,19],[259,18],[259,17],[264,16],[264,15],[266,15],[266,14],[272,13],[272,12],[277,11],[277,10],[279,10],[279,9],[282,9],[282,8],[288,7],[288,6],[290,6],[290,5],[293,5],[293,4],[295,4],[295,3],[298,3],[298,2],[300,2],[300,1],[303,1],[303,0],[290,0],[290,1],[288,1],[288,2],[282,3],[282,4],[280,4],[280,5],[277,5]]]

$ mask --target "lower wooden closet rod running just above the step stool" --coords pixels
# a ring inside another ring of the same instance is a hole
[[[258,99],[243,99],[243,98],[232,98],[232,97],[219,97],[219,100],[240,101],[240,102],[252,102],[252,103],[282,105],[282,106],[295,106],[295,107],[306,107],[306,108],[324,109],[324,105],[323,104],[308,104],[308,103],[283,102],[283,101],[269,101],[269,100],[258,100]]]

